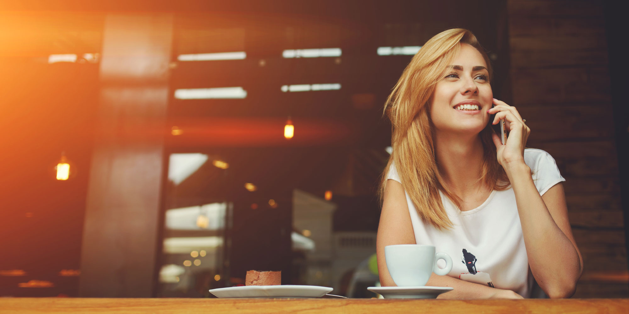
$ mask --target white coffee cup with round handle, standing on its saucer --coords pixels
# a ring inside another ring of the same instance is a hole
[[[396,244],[384,247],[387,269],[398,286],[424,286],[430,275],[446,275],[452,270],[452,258],[444,252],[435,254],[435,246]],[[437,261],[445,260],[445,268]]]

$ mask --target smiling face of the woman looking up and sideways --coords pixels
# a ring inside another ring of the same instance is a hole
[[[489,122],[493,97],[484,58],[473,46],[462,44],[435,87],[430,118],[437,131],[478,134]]]

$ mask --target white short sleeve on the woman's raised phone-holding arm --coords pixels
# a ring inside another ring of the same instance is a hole
[[[555,184],[565,181],[559,173],[555,159],[542,149],[527,148],[524,151],[524,160],[533,171],[533,182],[540,195],[544,195]]]

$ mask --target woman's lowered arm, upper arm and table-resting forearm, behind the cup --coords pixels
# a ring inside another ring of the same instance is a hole
[[[391,244],[415,244],[415,234],[408,205],[406,205],[404,188],[395,180],[388,180],[384,188],[384,202],[376,241],[378,274],[382,286],[396,286],[389,274],[384,257],[384,247]],[[450,276],[438,276],[434,273],[426,285],[454,288],[453,291],[443,293],[439,298],[521,298],[511,290],[491,288],[484,284],[470,283]]]

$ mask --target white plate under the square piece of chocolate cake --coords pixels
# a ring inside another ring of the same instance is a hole
[[[320,298],[330,287],[277,284],[275,286],[236,286],[211,289],[218,298]]]

